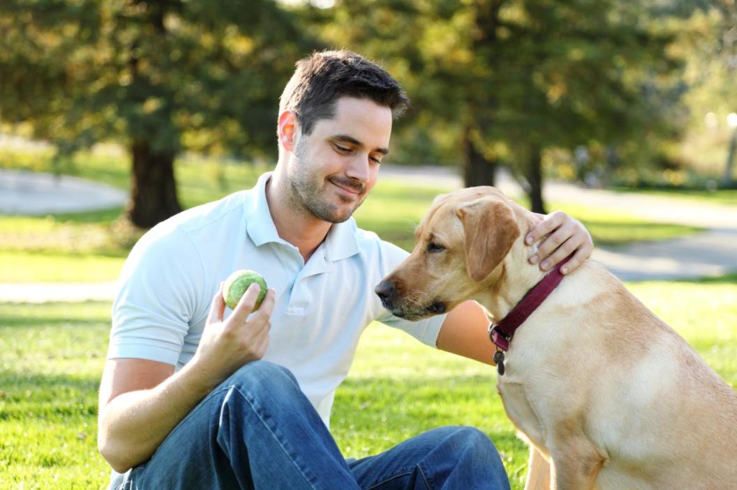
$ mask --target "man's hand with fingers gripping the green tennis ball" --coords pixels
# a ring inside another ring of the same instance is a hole
[[[226,303],[223,300],[223,284],[212,299],[210,313],[192,363],[198,365],[200,374],[209,386],[217,386],[245,364],[264,357],[269,344],[270,316],[274,307],[273,289],[266,292],[261,307],[251,318],[259,285],[251,284],[233,310],[223,321]]]

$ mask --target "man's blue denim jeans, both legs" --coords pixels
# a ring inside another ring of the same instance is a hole
[[[489,438],[441,427],[346,461],[287,369],[243,366],[125,475],[121,489],[509,489]]]

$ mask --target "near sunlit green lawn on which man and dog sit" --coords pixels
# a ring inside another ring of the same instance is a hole
[[[630,289],[737,388],[737,274]],[[0,490],[101,489],[97,385],[109,303],[0,304]],[[440,425],[473,425],[503,454],[523,488],[527,452],[495,391],[493,369],[372,324],[338,389],[332,432],[360,458]]]

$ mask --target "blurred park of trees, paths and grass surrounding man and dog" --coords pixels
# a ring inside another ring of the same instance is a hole
[[[130,247],[273,168],[294,63],[340,48],[412,99],[360,227],[411,249],[462,185],[565,210],[737,387],[736,0],[0,0],[0,490],[105,488],[97,387]],[[372,324],[332,433],[361,458],[473,425],[521,490],[494,376]]]

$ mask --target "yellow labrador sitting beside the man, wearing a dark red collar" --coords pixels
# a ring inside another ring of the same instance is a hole
[[[523,244],[536,222],[495,188],[439,196],[385,306],[420,319],[475,299],[503,319],[545,276]],[[555,489],[737,489],[737,395],[597,263],[517,330],[497,388]]]

